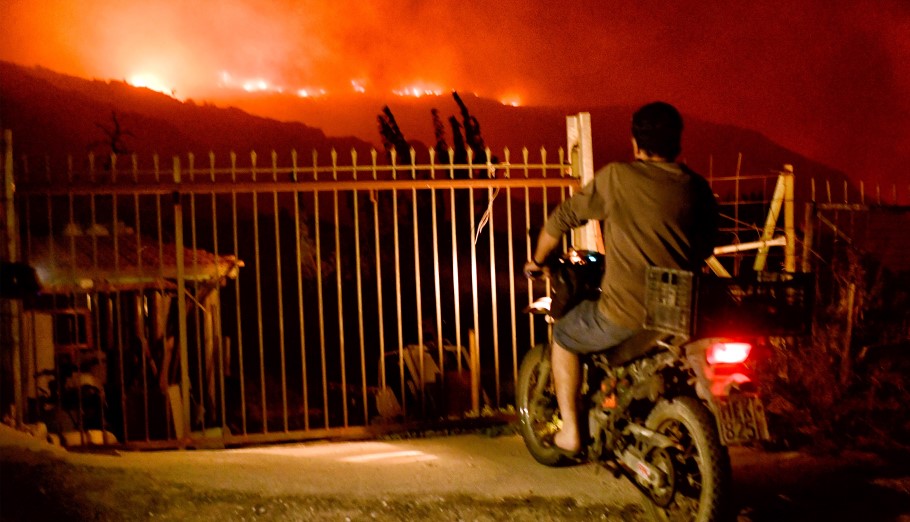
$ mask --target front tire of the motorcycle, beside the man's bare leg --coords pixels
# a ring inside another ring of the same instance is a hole
[[[519,431],[528,452],[545,466],[561,466],[570,459],[550,443],[560,422],[552,375],[549,347],[539,344],[521,360],[516,403]]]

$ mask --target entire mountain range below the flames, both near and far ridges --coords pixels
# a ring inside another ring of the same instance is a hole
[[[540,149],[548,160],[557,159],[557,149],[565,147],[565,117],[579,111],[591,113],[594,136],[594,161],[600,166],[630,155],[629,120],[632,106],[616,107],[512,107],[497,101],[463,95],[465,103],[480,122],[484,139],[499,160],[503,149],[511,151],[511,161],[521,162],[521,149],[529,149],[529,159],[537,162]],[[124,136],[124,145],[141,161],[152,153],[163,158],[193,152],[205,156],[213,151],[223,165],[230,151],[246,164],[249,151],[260,155],[259,164],[270,161],[275,150],[287,164],[291,149],[296,149],[302,164],[310,164],[310,151],[320,155],[335,148],[340,161],[357,149],[368,162],[369,149],[379,148],[376,116],[389,105],[408,140],[419,151],[434,143],[430,111],[439,109],[445,120],[458,114],[448,94],[386,99],[362,96],[331,96],[302,99],[293,95],[231,94],[219,104],[179,101],[161,93],[136,88],[122,81],[86,80],[43,68],[27,68],[0,62],[0,127],[13,130],[18,156],[73,154],[89,150],[109,153],[105,147],[105,128],[112,127],[115,113]],[[241,107],[241,110],[236,107]],[[250,112],[262,116],[254,116]],[[683,157],[690,166],[706,176],[732,176],[742,154],[743,174],[768,174],[785,163],[794,166],[797,197],[809,197],[810,179],[830,181],[840,189],[844,174],[805,158],[774,143],[761,134],[732,125],[719,125],[684,114],[686,131]],[[335,136],[328,137],[326,132]],[[451,139],[451,132],[448,134]],[[203,157],[199,165],[205,165]],[[381,160],[382,161],[382,160]],[[327,162],[327,160],[326,160]]]

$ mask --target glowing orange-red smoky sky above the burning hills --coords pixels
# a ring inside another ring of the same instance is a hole
[[[0,59],[215,101],[244,85],[576,110],[665,99],[859,178],[910,163],[906,0],[569,4],[4,0]]]

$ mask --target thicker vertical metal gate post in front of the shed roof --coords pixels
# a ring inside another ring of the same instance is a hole
[[[174,183],[180,183],[180,158],[174,156]],[[180,192],[174,193],[174,250],[177,264],[177,321],[178,339],[180,350],[180,413],[182,419],[174,419],[175,432],[178,439],[190,435],[190,369],[189,369],[189,341],[186,326],[186,267],[184,266],[183,251],[183,206],[180,201]],[[177,428],[177,422],[182,422],[182,429]],[[180,434],[182,433],[182,436]]]

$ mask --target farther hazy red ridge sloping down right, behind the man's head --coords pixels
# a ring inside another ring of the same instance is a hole
[[[504,159],[503,149],[506,147],[510,150],[513,163],[521,161],[523,147],[529,149],[531,162],[539,161],[541,147],[546,148],[548,160],[556,160],[558,148],[566,146],[566,115],[581,111],[591,113],[596,166],[624,160],[631,155],[629,122],[636,108],[634,106],[512,107],[470,94],[462,93],[462,97],[479,120],[483,137],[493,155],[500,160]],[[458,108],[448,94],[416,99],[399,96],[376,99],[367,95],[301,99],[292,95],[253,96],[243,93],[227,97],[224,101],[257,114],[304,121],[329,134],[356,136],[372,143],[378,143],[379,139],[376,115],[384,105],[388,105],[399,127],[418,150],[425,148],[425,144],[434,143],[432,109],[438,109],[443,120],[458,114]],[[839,170],[806,158],[756,131],[713,123],[693,114],[684,114],[684,117],[686,130],[682,159],[705,176],[733,176],[742,154],[740,172],[744,175],[766,175],[779,170],[784,164],[793,165],[797,176],[797,195],[801,199],[809,197],[812,178],[819,184],[830,181],[843,193],[846,176]],[[448,138],[451,140],[451,132]]]

